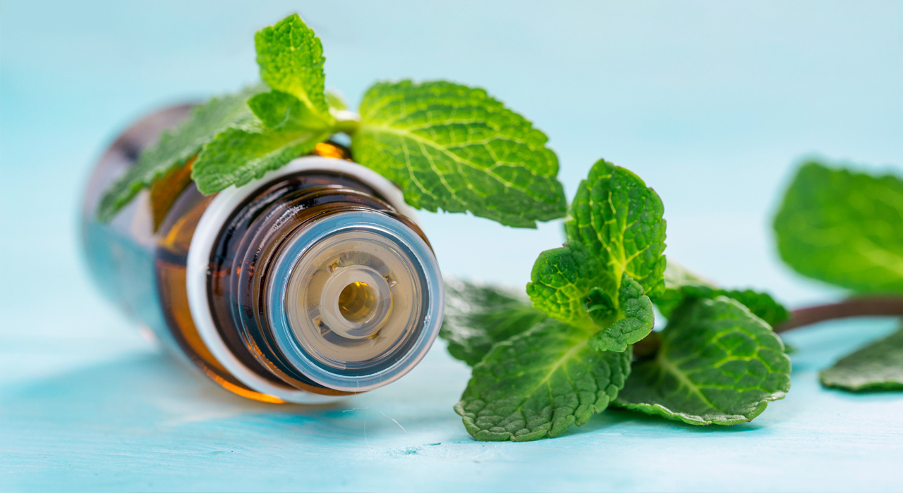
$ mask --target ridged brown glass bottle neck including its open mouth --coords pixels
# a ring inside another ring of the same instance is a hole
[[[247,196],[214,242],[207,286],[219,336],[239,361],[321,394],[401,377],[442,314],[423,233],[340,172],[296,173]]]

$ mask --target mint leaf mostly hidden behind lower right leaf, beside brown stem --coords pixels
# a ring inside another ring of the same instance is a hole
[[[665,292],[655,301],[658,310],[666,318],[684,303],[686,299],[715,297],[730,297],[736,299],[741,305],[749,308],[753,315],[758,316],[772,327],[784,322],[790,314],[787,308],[771,297],[768,293],[753,289],[721,289],[712,283],[700,278],[674,261],[668,260],[665,269]]]

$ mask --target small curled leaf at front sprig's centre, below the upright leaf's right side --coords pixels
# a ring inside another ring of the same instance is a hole
[[[595,291],[595,290],[594,290]],[[592,299],[592,296],[591,296]],[[643,287],[624,274],[618,297],[618,318],[612,323],[599,320],[602,330],[590,339],[590,347],[596,351],[624,351],[628,344],[639,342],[652,332],[656,314],[652,301],[643,295]],[[592,313],[593,307],[590,307]]]

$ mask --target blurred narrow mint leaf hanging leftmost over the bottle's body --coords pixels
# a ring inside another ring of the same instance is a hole
[[[187,120],[163,132],[160,141],[145,149],[138,162],[107,189],[98,206],[98,219],[102,222],[113,219],[138,192],[170,169],[183,166],[220,132],[253,123],[256,119],[246,104],[247,99],[265,90],[263,85],[247,87],[237,94],[214,97],[194,108]]]

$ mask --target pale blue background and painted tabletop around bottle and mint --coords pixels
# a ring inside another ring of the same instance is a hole
[[[6,1],[0,13],[0,489],[899,490],[903,394],[816,383],[893,321],[793,333],[793,389],[747,425],[606,412],[555,440],[477,443],[469,370],[438,343],[339,406],[247,402],[144,341],[89,284],[80,189],[127,123],[256,78],[253,34],[299,11],[327,85],[488,87],[550,136],[569,196],[604,157],[666,204],[667,253],[792,306],[839,297],[777,260],[777,196],[806,155],[903,165],[903,5]],[[560,224],[421,216],[442,269],[523,286]]]

